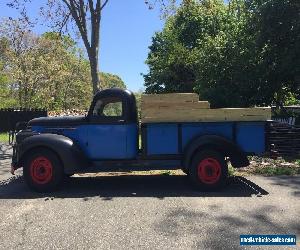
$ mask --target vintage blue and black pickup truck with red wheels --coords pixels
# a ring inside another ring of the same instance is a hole
[[[119,104],[114,115],[106,110]],[[103,171],[182,169],[196,188],[224,186],[227,163],[249,165],[248,155],[269,151],[270,121],[139,124],[132,92],[98,92],[86,116],[42,117],[16,134],[12,174],[23,167],[30,188],[59,187],[65,176]],[[141,138],[141,146],[139,146]]]

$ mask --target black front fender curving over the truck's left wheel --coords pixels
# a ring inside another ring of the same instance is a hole
[[[39,147],[54,151],[62,161],[66,174],[76,173],[89,165],[81,148],[70,138],[57,134],[38,134],[25,138],[18,145],[16,166],[21,166],[26,154]]]

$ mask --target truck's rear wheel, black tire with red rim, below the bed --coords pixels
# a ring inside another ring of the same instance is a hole
[[[225,157],[214,150],[199,151],[192,159],[189,177],[192,184],[205,191],[216,191],[225,186],[228,166]]]

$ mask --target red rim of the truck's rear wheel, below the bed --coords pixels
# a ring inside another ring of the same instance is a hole
[[[198,177],[205,184],[216,183],[221,176],[221,164],[214,158],[205,158],[198,164]]]

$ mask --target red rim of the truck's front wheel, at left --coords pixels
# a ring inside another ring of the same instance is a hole
[[[46,184],[52,178],[52,164],[45,157],[37,157],[30,164],[30,175],[34,182]]]

